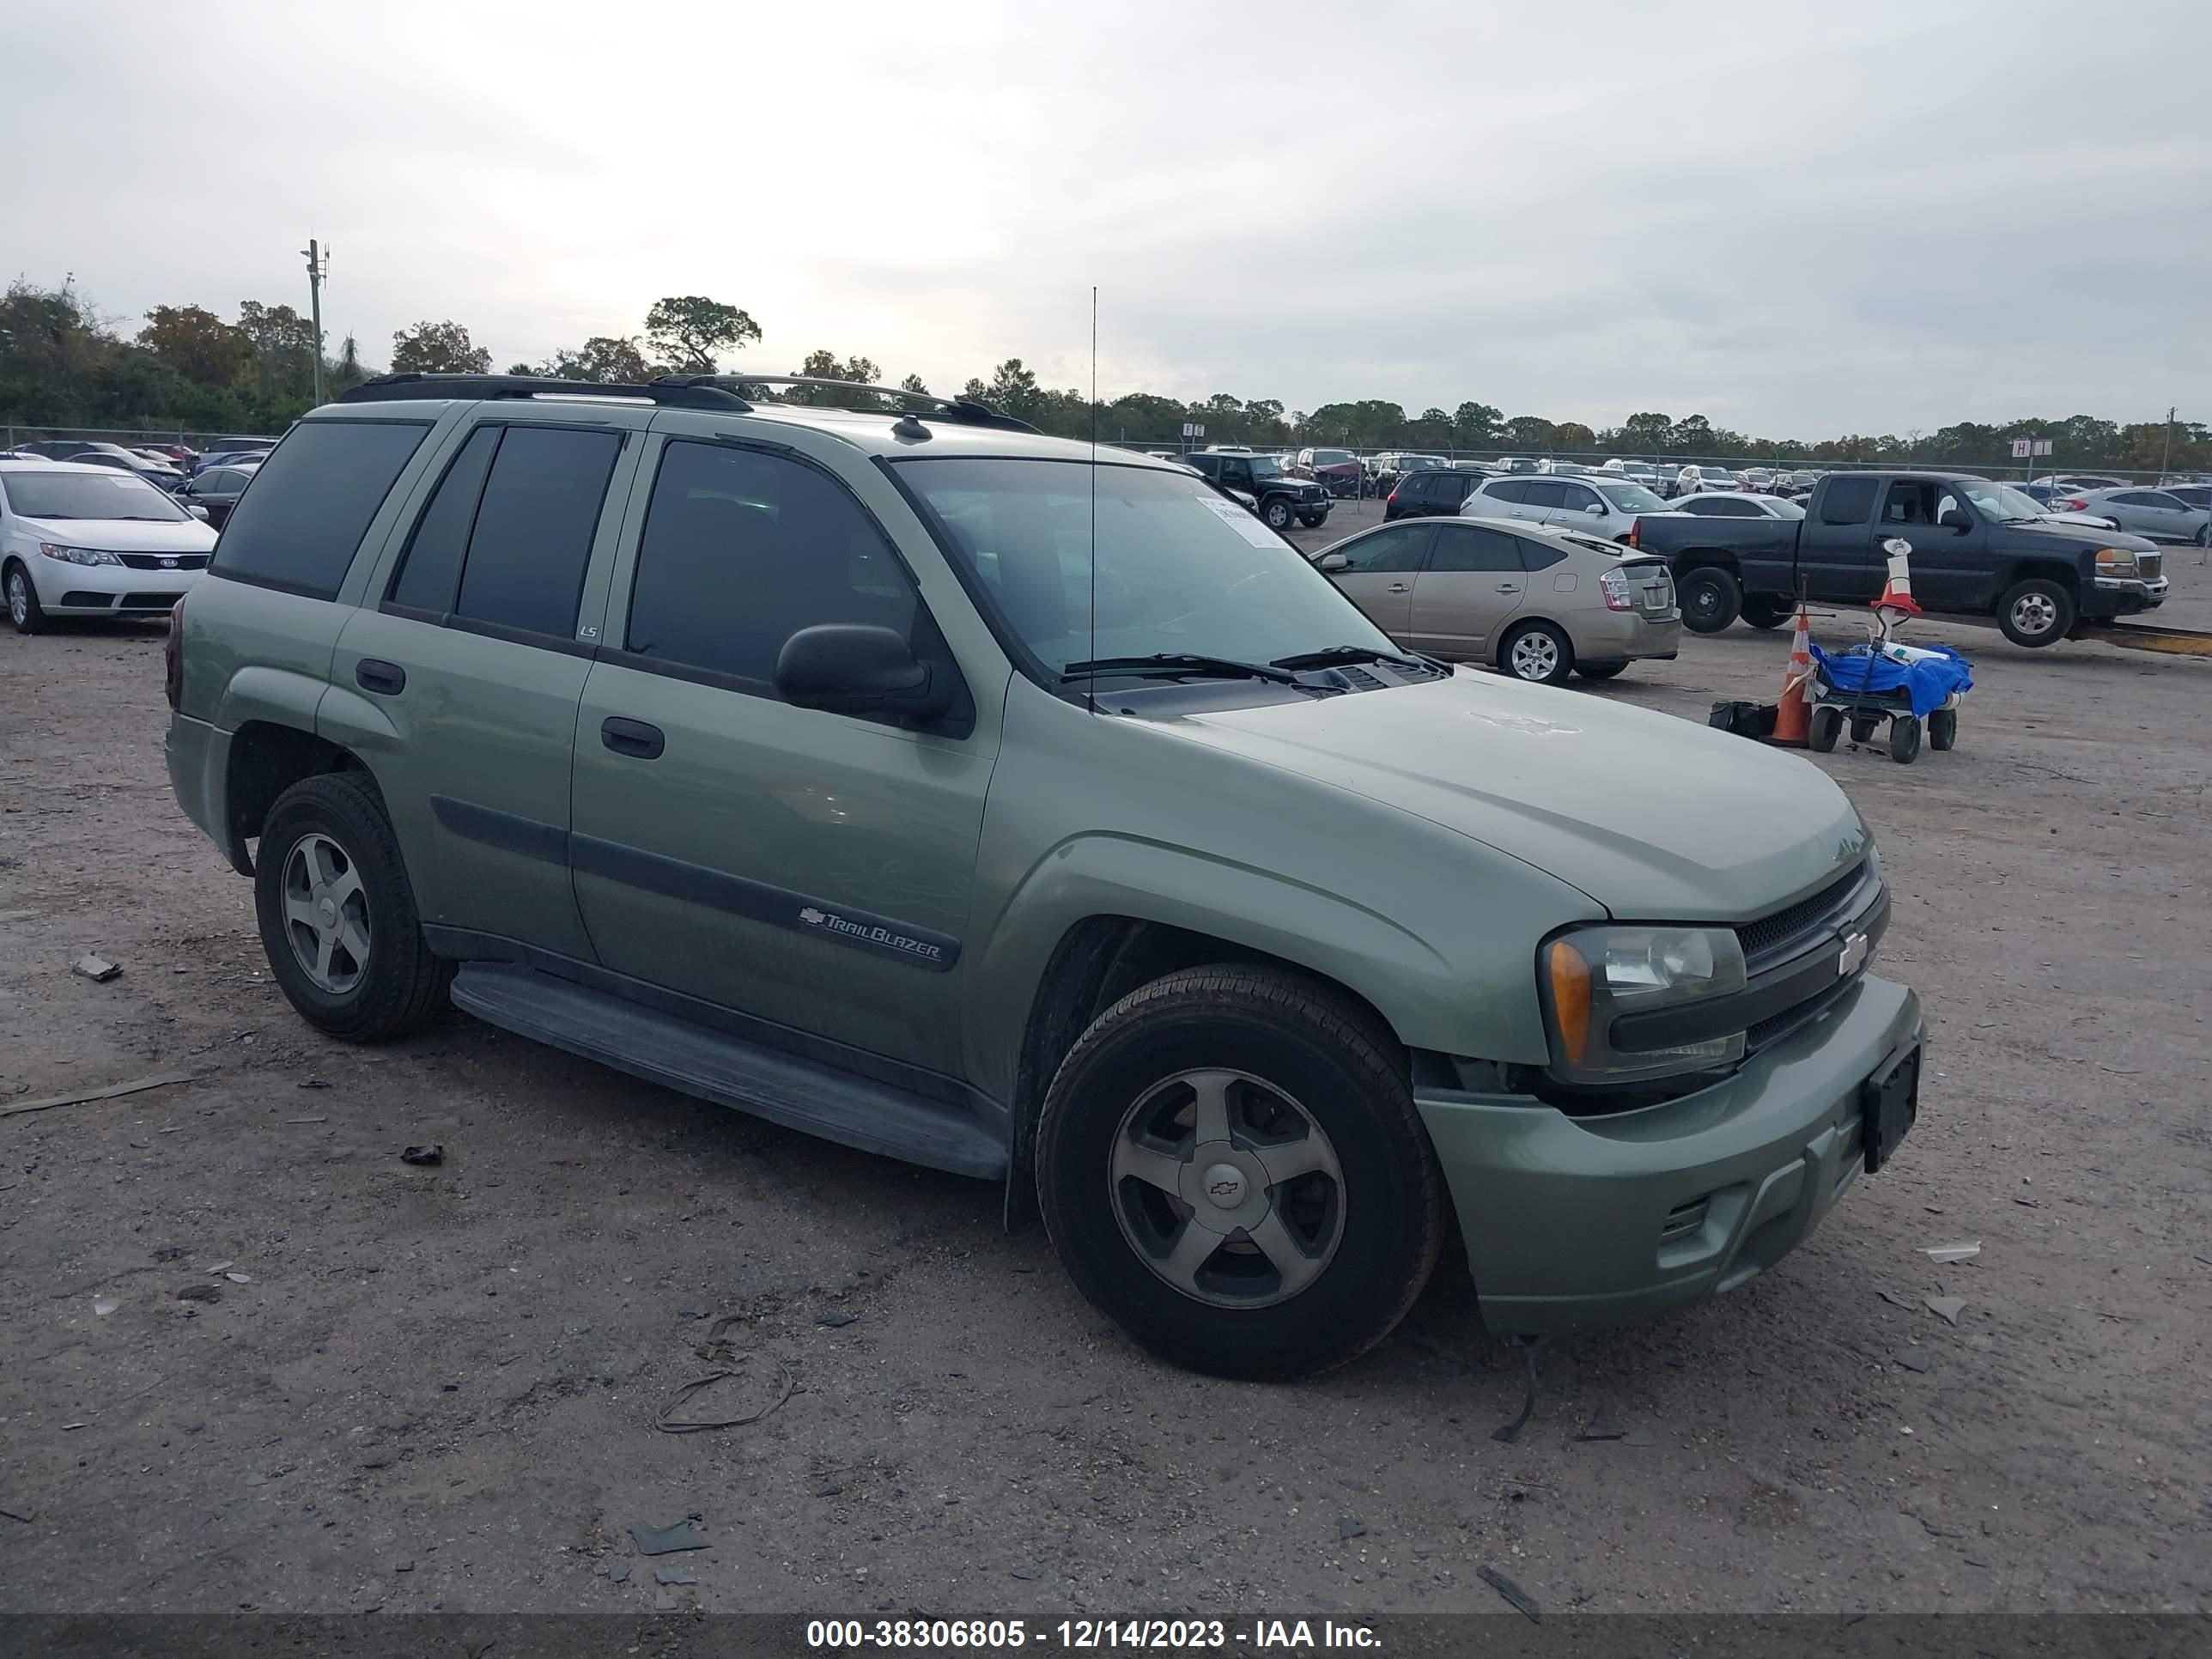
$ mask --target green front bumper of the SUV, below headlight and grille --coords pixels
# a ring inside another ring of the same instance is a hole
[[[1849,1190],[1860,1084],[1920,1033],[1920,998],[1863,978],[1694,1095],[1568,1117],[1416,1091],[1484,1323],[1500,1336],[1635,1325],[1754,1279]]]

